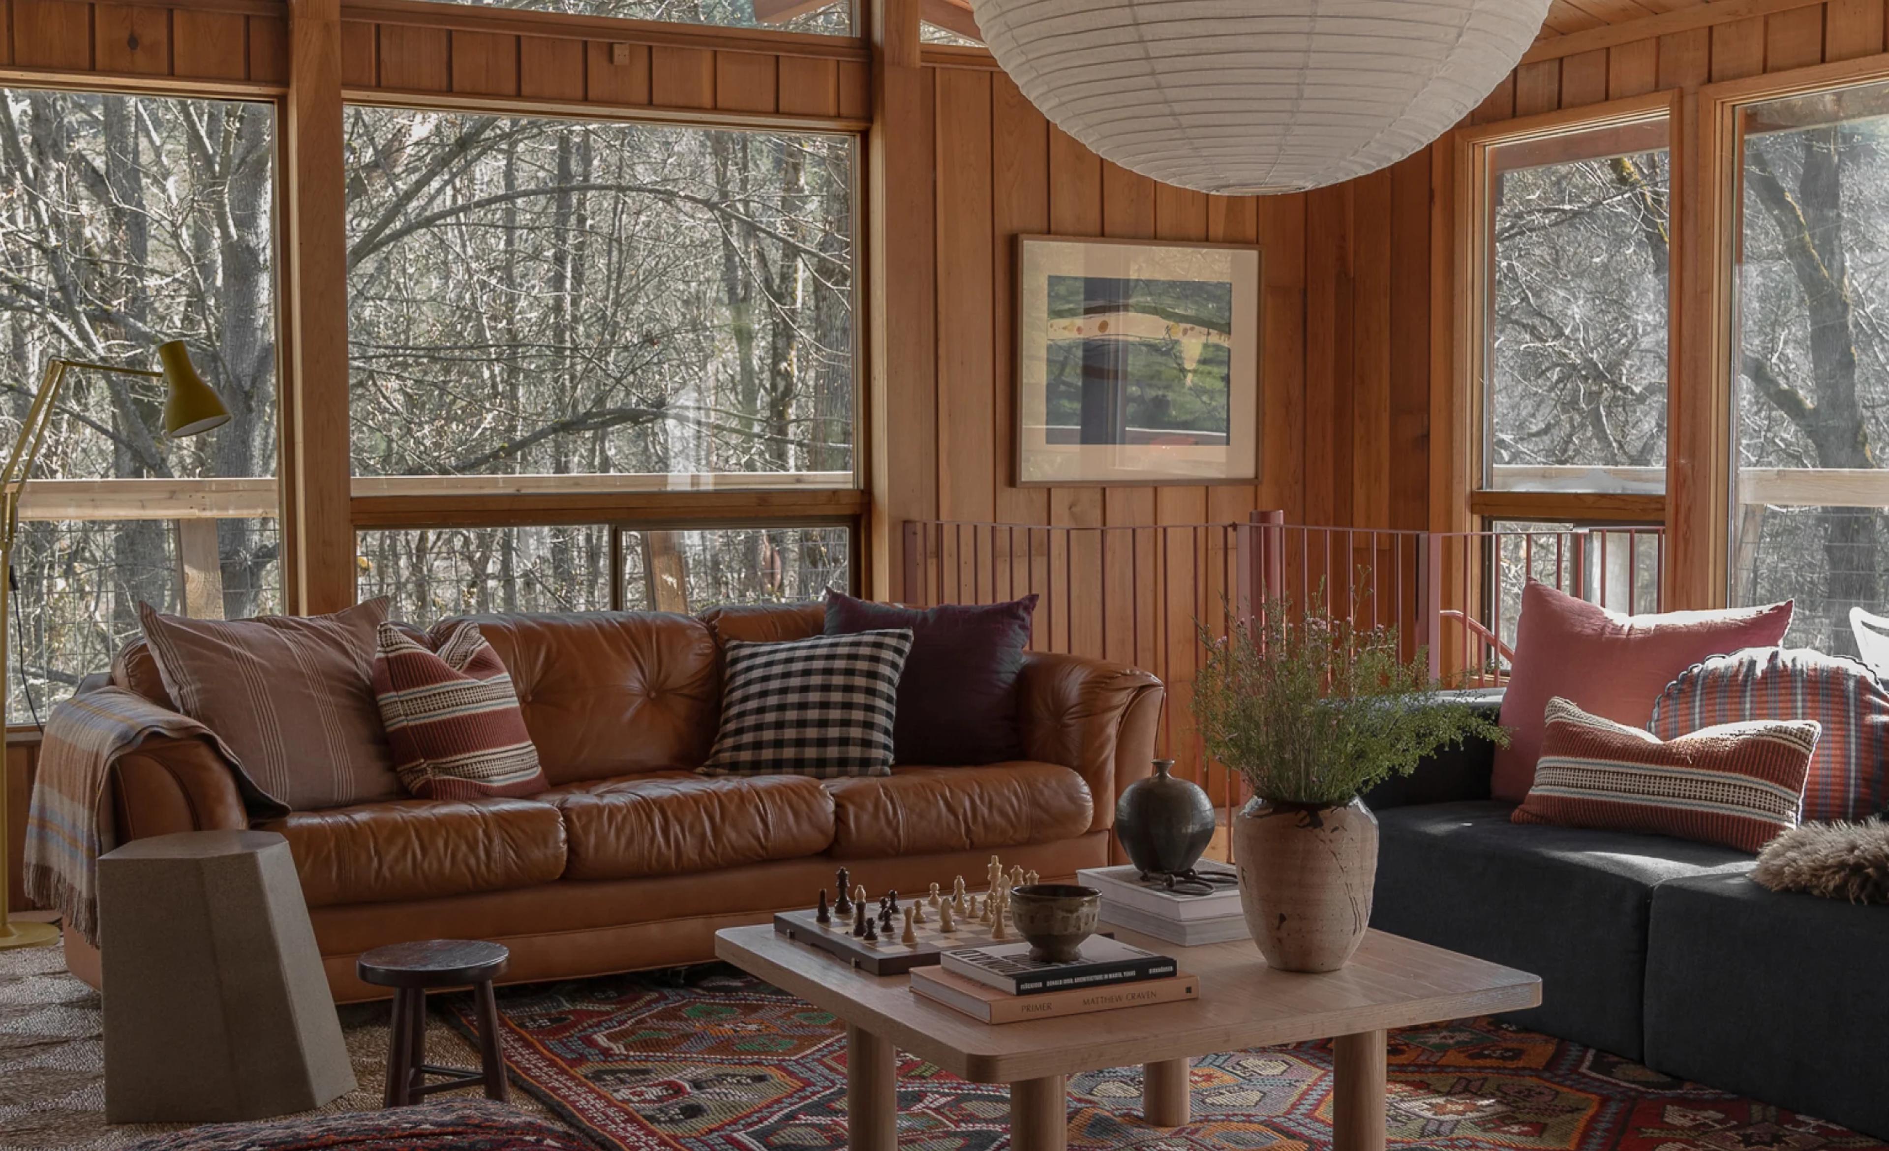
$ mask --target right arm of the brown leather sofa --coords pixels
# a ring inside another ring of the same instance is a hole
[[[1162,680],[1105,660],[1031,652],[1018,694],[1024,754],[1075,769],[1096,798],[1088,830],[1113,828],[1120,790],[1154,771]]]

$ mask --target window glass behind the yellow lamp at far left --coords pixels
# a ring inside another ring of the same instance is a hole
[[[13,720],[108,667],[140,599],[281,607],[274,163],[268,104],[0,93],[0,438],[19,433],[49,357],[144,367],[170,338],[232,414],[166,440],[155,380],[68,376],[13,558]]]

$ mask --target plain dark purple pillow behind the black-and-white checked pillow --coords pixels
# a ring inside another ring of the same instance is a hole
[[[967,767],[1020,760],[1016,677],[1037,597],[918,610],[827,592],[827,635],[912,629],[892,722],[893,764]]]

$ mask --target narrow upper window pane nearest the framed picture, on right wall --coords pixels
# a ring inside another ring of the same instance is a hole
[[[1664,490],[1670,174],[1664,115],[1489,147],[1481,488]]]

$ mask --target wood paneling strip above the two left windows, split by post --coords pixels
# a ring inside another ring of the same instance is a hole
[[[0,0],[9,79],[268,94],[289,79],[281,0]],[[863,40],[608,21],[468,4],[342,4],[351,98],[459,96],[493,108],[637,110],[767,123],[871,115]]]

